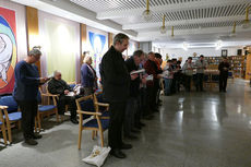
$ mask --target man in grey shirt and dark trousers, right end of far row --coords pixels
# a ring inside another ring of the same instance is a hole
[[[206,62],[204,61],[203,55],[201,55],[200,59],[196,60],[195,67],[196,67],[196,91],[203,92],[204,70],[206,69]]]

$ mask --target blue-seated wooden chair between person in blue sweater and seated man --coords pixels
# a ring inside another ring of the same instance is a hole
[[[41,130],[41,120],[45,116],[50,116],[56,114],[57,122],[59,122],[59,114],[58,114],[58,107],[57,107],[57,99],[58,95],[52,95],[49,93],[41,93],[40,91],[40,97],[41,97],[41,105],[38,105],[38,110],[37,110],[37,117],[35,120],[35,130],[37,131],[37,124],[38,124],[38,131]],[[50,100],[46,104],[44,98],[52,98],[52,105],[50,105]],[[62,118],[61,118],[62,120]]]

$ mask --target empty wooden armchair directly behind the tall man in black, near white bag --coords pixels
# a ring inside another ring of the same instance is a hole
[[[80,115],[79,123],[79,150],[81,148],[82,131],[91,130],[93,132],[99,132],[101,146],[104,146],[103,132],[108,129],[109,119],[101,119],[101,112],[97,112],[94,109],[93,95],[81,97],[76,99],[77,114]],[[93,117],[92,117],[93,116]],[[83,123],[84,118],[91,119]]]

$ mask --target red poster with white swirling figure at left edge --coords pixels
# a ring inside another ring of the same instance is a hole
[[[15,11],[0,7],[0,94],[12,93],[16,55]]]

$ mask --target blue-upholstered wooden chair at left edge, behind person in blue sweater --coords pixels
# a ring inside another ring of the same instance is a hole
[[[4,112],[3,119],[7,124],[8,139],[12,143],[12,132],[11,129],[17,127],[21,129],[22,115],[19,110],[17,104],[12,96],[3,96],[0,99],[1,112]]]

